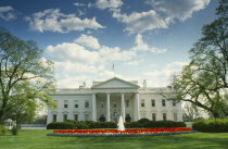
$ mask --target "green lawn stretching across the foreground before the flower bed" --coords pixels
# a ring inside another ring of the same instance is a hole
[[[52,131],[20,131],[0,136],[0,149],[227,149],[228,133],[194,133],[149,137],[53,137]]]

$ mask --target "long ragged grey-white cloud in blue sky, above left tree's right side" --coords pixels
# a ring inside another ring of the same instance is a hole
[[[34,13],[31,17],[25,17],[29,27],[38,32],[68,33],[72,30],[85,30],[104,28],[93,18],[79,18],[75,14],[63,14],[59,9],[49,9]]]

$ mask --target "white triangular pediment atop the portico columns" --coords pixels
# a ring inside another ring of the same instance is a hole
[[[138,85],[114,77],[105,82],[93,85],[92,88],[139,88]]]

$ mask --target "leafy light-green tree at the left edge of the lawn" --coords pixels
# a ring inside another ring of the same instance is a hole
[[[54,105],[49,96],[55,91],[53,62],[42,58],[35,41],[0,28],[0,122],[18,111],[33,113],[38,103]]]

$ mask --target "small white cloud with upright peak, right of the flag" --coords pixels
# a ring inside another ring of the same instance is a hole
[[[166,49],[159,49],[155,47],[150,47],[149,45],[144,44],[142,40],[142,36],[140,34],[138,34],[136,36],[136,46],[131,49],[131,50],[136,50],[136,51],[150,51],[150,52],[154,52],[154,53],[163,53],[166,52]]]

